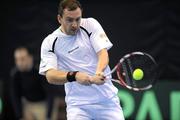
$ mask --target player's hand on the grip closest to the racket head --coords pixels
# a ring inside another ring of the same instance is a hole
[[[96,74],[94,76],[91,77],[91,83],[92,84],[96,84],[96,85],[102,85],[105,83],[105,77],[103,74]]]

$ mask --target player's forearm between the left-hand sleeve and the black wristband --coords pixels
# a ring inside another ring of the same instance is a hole
[[[64,84],[67,82],[67,73],[65,71],[50,69],[46,72],[46,79],[51,84]]]

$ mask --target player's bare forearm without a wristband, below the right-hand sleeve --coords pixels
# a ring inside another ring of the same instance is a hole
[[[109,56],[106,49],[98,52],[98,64],[96,68],[96,74],[102,73],[109,64]]]

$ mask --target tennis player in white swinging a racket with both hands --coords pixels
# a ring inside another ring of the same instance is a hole
[[[41,46],[39,73],[51,84],[64,84],[68,120],[124,120],[110,71],[112,43],[94,18],[81,18],[76,0],[59,4],[61,26]]]

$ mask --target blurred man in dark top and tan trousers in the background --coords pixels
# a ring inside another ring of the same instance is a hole
[[[45,120],[47,83],[38,74],[33,65],[33,56],[27,48],[18,47],[14,58],[16,67],[11,71],[10,92],[16,118]]]

